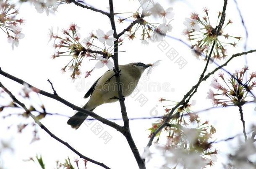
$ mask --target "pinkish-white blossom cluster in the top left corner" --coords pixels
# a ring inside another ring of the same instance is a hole
[[[12,49],[18,47],[19,40],[24,38],[19,25],[24,24],[24,19],[16,19],[19,11],[8,0],[0,0],[0,30],[7,34],[8,42]]]

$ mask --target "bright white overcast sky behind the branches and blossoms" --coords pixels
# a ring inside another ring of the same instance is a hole
[[[256,15],[256,11],[254,10],[256,3],[254,1],[247,1],[246,3],[242,0],[237,1],[248,29],[247,50],[255,49],[254,39],[256,32],[252,16]],[[86,2],[98,9],[107,11],[107,0],[88,0]],[[120,46],[120,50],[125,50],[125,53],[119,54],[120,64],[132,62],[154,63],[157,60],[162,60],[160,66],[155,68],[151,75],[146,76],[146,73],[142,75],[136,89],[136,95],[134,94],[134,96],[132,95],[125,99],[129,118],[163,115],[164,108],[162,108],[162,106],[164,103],[158,102],[160,97],[180,101],[191,86],[198,81],[205,64],[203,59],[197,60],[185,44],[170,37],[179,38],[189,43],[186,37],[181,35],[182,30],[185,28],[183,25],[184,18],[189,17],[191,12],[203,14],[203,7],[208,7],[212,21],[216,22],[214,19],[217,17],[217,12],[222,10],[223,6],[222,0],[216,0],[214,3],[212,3],[211,0],[162,0],[160,3],[164,8],[173,7],[173,12],[175,13],[174,20],[171,22],[173,27],[172,32],[167,34],[169,37],[165,38],[164,43],[141,45],[140,39],[137,38],[133,41],[125,40],[124,44]],[[118,13],[134,12],[138,8],[138,5],[136,0],[114,0],[115,12]],[[11,45],[7,42],[6,34],[0,32],[2,49],[0,54],[0,67],[3,71],[48,92],[52,92],[51,86],[47,82],[47,79],[50,79],[59,96],[77,106],[83,106],[87,102],[87,99],[83,98],[84,94],[91,84],[107,71],[107,67],[96,69],[88,78],[82,77],[74,82],[71,81],[69,72],[61,73],[60,71],[60,68],[65,66],[69,61],[69,58],[63,57],[56,58],[55,60],[50,58],[55,50],[52,48],[52,43],[47,44],[49,40],[48,29],[53,27],[53,29],[57,31],[57,27],[61,30],[68,28],[71,23],[76,23],[80,27],[79,32],[81,37],[86,37],[91,31],[96,32],[98,28],[105,32],[110,30],[110,21],[106,16],[100,13],[85,10],[74,4],[61,5],[57,9],[57,13],[50,14],[49,16],[45,13],[37,13],[34,6],[29,3],[18,5],[18,7],[20,8],[19,16],[26,20],[25,25],[22,26],[22,32],[25,34],[25,37],[20,40],[18,48],[12,50]],[[121,16],[125,17],[125,15]],[[243,37],[236,48],[228,48],[227,53],[230,56],[238,52],[243,52],[243,46],[246,40],[245,29],[241,24],[240,15],[233,0],[228,0],[226,18],[230,18],[233,21],[232,25],[227,28],[228,33]],[[117,24],[118,32],[128,25],[129,22]],[[180,68],[180,66],[175,63],[175,60],[172,61],[167,57],[166,52],[171,49],[177,51],[178,58],[182,57],[185,59],[186,64],[184,67]],[[248,66],[251,71],[256,71],[255,56],[255,53],[247,55]],[[95,61],[83,63],[81,71],[85,72],[91,70],[95,63]],[[218,62],[218,64],[222,63],[224,63],[224,61]],[[244,65],[244,57],[238,57],[232,60],[225,68],[227,71],[234,73],[236,69],[240,69]],[[211,64],[209,70],[213,70],[215,67],[216,65]],[[213,77],[216,77],[216,75],[201,83],[198,92],[192,98],[194,105],[192,107],[193,111],[212,107],[212,102],[206,99],[206,96]],[[21,85],[3,76],[0,76],[0,81],[22,100],[22,98],[18,96],[18,93],[22,89]],[[143,96],[147,101],[140,103],[138,99],[139,96]],[[36,94],[33,98],[35,104],[41,99],[48,112],[64,114],[66,116],[71,116],[75,113],[71,108],[50,98],[44,96],[38,98]],[[26,105],[29,105],[29,101],[23,101]],[[253,119],[256,118],[255,107],[255,104],[244,106],[244,119],[246,121],[247,130],[249,130],[253,124],[256,125],[255,121],[253,121]],[[6,115],[10,112],[18,113],[21,112],[21,110],[7,110],[1,112],[0,116],[4,116],[4,114]],[[99,106],[94,112],[107,119],[121,118],[118,102]],[[202,121],[209,120],[209,123],[216,128],[217,133],[214,134],[214,140],[226,139],[230,136],[242,133],[240,114],[236,107],[216,108],[210,111],[204,111],[200,113],[199,116]],[[56,136],[67,141],[75,149],[78,149],[81,154],[101,161],[112,169],[138,168],[125,138],[122,134],[118,133],[118,131],[97,121],[87,121],[86,124],[83,124],[78,130],[73,130],[66,124],[67,120],[68,118],[65,116],[47,116],[42,119],[41,122]],[[42,155],[47,169],[54,168],[56,160],[62,162],[68,156],[72,160],[77,157],[71,150],[52,139],[39,127],[37,127],[37,129],[40,140],[33,143],[31,143],[31,139],[33,137],[32,131],[34,127],[26,127],[21,134],[17,132],[16,126],[18,124],[31,123],[32,121],[31,118],[24,119],[18,116],[11,116],[5,120],[0,118],[0,140],[9,143],[14,149],[14,151],[4,151],[0,154],[0,166],[2,165],[3,169],[39,169],[40,167],[37,163],[24,161],[29,159],[29,157],[36,156],[36,154]],[[147,129],[151,127],[154,121],[155,119],[130,121],[131,134],[141,153],[149,141],[149,131]],[[123,124],[122,121],[115,122],[120,125]],[[11,126],[10,129],[7,129],[8,126]],[[93,130],[95,126],[100,126],[102,131],[95,133]],[[104,133],[109,134],[111,137],[107,143],[101,138]],[[161,144],[165,144],[165,136],[162,137],[162,140]],[[234,152],[240,140],[243,140],[243,137],[214,144],[214,149],[219,149],[220,153],[217,155],[218,161],[212,168],[221,168],[222,163],[225,163],[227,160],[227,154]],[[156,154],[154,154],[154,158],[151,159],[146,166],[147,169],[158,169],[163,161],[157,154],[154,146],[152,146],[152,151],[156,152]],[[82,164],[82,160],[80,160],[79,163]],[[101,168],[102,167],[88,162],[88,169]]]

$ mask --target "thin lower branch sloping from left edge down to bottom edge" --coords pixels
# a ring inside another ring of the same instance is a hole
[[[37,117],[34,116],[33,114],[31,114],[31,112],[26,108],[24,103],[21,103],[20,101],[18,101],[18,99],[7,89],[5,88],[5,86],[3,86],[3,84],[0,82],[0,87],[3,88],[3,90],[10,96],[10,98],[17,103],[18,105],[20,105],[25,111],[26,113],[32,117],[32,119],[34,120],[34,122],[36,124],[38,124],[41,129],[43,129],[45,132],[47,132],[47,134],[49,134],[53,139],[59,141],[60,143],[64,144],[65,146],[67,146],[69,149],[71,149],[71,151],[73,151],[74,153],[76,153],[80,158],[82,159],[86,159],[94,164],[97,164],[99,166],[102,166],[105,169],[110,169],[108,166],[106,166],[105,164],[95,161],[93,159],[90,159],[87,156],[84,156],[83,154],[79,153],[76,149],[74,149],[71,145],[69,145],[67,142],[63,141],[62,139],[60,139],[59,137],[55,136],[50,130],[48,130],[39,120],[37,120]]]

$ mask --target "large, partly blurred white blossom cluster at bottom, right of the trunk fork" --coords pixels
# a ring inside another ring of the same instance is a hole
[[[159,101],[169,100],[160,98]],[[174,105],[176,105],[176,102],[168,106]],[[216,129],[212,125],[209,125],[208,121],[201,122],[198,114],[191,111],[190,107],[190,104],[180,106],[180,108],[172,114],[173,118],[168,122],[168,126],[157,134],[158,138],[155,143],[159,144],[160,135],[163,132],[167,133],[165,146],[160,146],[164,149],[165,153],[169,152],[169,155],[165,155],[167,161],[166,165],[169,163],[175,164],[175,166],[183,165],[184,168],[187,168],[189,165],[192,165],[193,162],[197,161],[197,164],[195,164],[197,168],[198,166],[212,166],[217,159],[216,154],[218,151],[216,149],[211,150],[212,142],[210,142],[209,139],[212,138],[212,134],[216,132]],[[149,129],[151,134],[163,124],[170,110],[171,109],[166,108],[165,116],[152,124],[152,127]],[[149,137],[151,137],[151,134]],[[192,169],[192,166],[188,168]]]

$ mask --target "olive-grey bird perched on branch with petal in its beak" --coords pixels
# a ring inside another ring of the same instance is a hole
[[[123,97],[129,96],[134,91],[142,73],[150,66],[152,66],[152,64],[144,64],[141,62],[119,66]],[[94,111],[97,106],[119,100],[118,85],[116,79],[113,77],[115,77],[115,71],[108,70],[93,83],[91,88],[84,95],[84,98],[90,96],[89,101],[83,106],[84,109]],[[78,129],[87,117],[88,115],[78,111],[68,119],[67,123],[71,125],[72,128]]]

